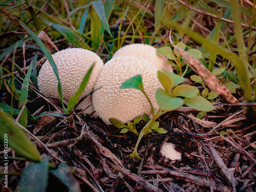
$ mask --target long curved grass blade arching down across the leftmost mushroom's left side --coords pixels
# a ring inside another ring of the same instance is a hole
[[[22,22],[19,22],[20,25],[22,25],[22,27],[33,37],[33,39],[35,40],[35,42],[37,43],[37,45],[41,48],[41,51],[45,54],[46,58],[48,59],[54,74],[57,77],[58,80],[58,93],[59,93],[59,98],[60,101],[62,103],[62,108],[64,111],[66,111],[66,108],[64,106],[64,102],[63,102],[63,95],[62,95],[62,88],[61,88],[61,82],[59,79],[59,73],[58,73],[58,69],[57,66],[52,58],[52,55],[49,53],[49,51],[47,50],[45,44],[37,37],[37,35],[35,33],[33,33],[33,31],[31,31],[25,24],[23,24]]]

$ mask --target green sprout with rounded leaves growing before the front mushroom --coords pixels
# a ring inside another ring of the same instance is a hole
[[[186,84],[180,84],[185,80],[183,77],[166,70],[158,71],[157,76],[162,86],[164,87],[164,90],[159,88],[156,91],[156,100],[159,105],[159,109],[157,110],[153,108],[152,102],[147,97],[144,91],[142,75],[135,75],[132,78],[124,81],[123,84],[120,86],[120,89],[134,88],[140,90],[150,103],[153,114],[152,118],[146,123],[146,125],[140,131],[139,135],[136,134],[137,131],[135,129],[135,126],[132,126],[131,122],[129,122],[127,126],[123,123],[119,123],[119,129],[127,129],[124,130],[123,132],[131,131],[139,136],[134,152],[131,155],[129,155],[130,157],[133,158],[141,159],[137,152],[139,142],[144,135],[147,135],[148,133],[151,133],[159,129],[159,122],[156,122],[156,120],[161,115],[169,111],[174,111],[183,104],[186,104],[187,106],[190,106],[191,108],[194,108],[198,111],[209,112],[215,109],[214,106],[208,100],[198,95],[199,90],[196,87],[188,86]],[[135,124],[138,122],[140,118],[141,117],[136,118]],[[114,119],[110,119],[110,121],[114,122]],[[114,125],[116,124],[117,123],[114,123]]]

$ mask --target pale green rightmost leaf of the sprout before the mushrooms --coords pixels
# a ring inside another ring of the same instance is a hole
[[[185,98],[184,104],[198,111],[209,112],[209,111],[215,110],[214,105],[212,105],[210,101],[198,95],[191,98]]]

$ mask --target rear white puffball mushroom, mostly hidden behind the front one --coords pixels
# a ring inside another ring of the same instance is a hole
[[[158,70],[168,70],[173,72],[172,66],[166,63],[167,59],[165,56],[160,56],[157,54],[157,49],[153,46],[146,44],[130,44],[122,47],[117,50],[112,58],[120,57],[120,56],[133,56],[139,57],[142,59],[151,62],[154,66],[158,68]]]

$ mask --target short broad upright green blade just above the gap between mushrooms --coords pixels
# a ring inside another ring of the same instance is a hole
[[[100,18],[95,10],[94,7],[92,7],[92,10],[90,12],[91,14],[91,38],[92,38],[92,48],[94,50],[98,49],[101,35],[100,35]]]

